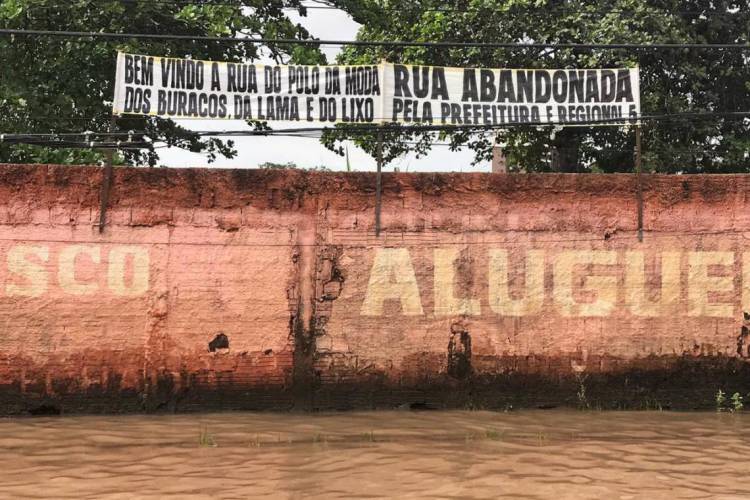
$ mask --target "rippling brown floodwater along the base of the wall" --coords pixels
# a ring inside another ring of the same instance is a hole
[[[749,498],[750,414],[0,421],[2,498]]]

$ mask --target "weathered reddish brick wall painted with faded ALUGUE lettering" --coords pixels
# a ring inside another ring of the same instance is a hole
[[[0,167],[3,413],[710,405],[750,177]],[[228,344],[228,348],[226,345]]]

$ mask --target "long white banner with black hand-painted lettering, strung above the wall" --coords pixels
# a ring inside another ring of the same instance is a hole
[[[619,125],[638,68],[280,66],[120,53],[113,111],[164,118],[429,125]]]

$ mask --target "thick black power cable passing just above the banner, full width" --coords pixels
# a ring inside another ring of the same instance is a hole
[[[411,42],[411,41],[377,41],[377,40],[296,40],[289,38],[242,38],[196,35],[166,35],[159,33],[107,33],[97,31],[63,31],[63,30],[23,30],[0,29],[1,36],[37,36],[61,38],[91,38],[82,40],[90,42],[96,39],[108,40],[185,40],[194,42],[242,43],[265,45],[332,45],[355,47],[389,47],[389,48],[485,48],[485,49],[582,49],[582,50],[740,50],[750,51],[750,44],[731,43],[486,43],[486,42]]]

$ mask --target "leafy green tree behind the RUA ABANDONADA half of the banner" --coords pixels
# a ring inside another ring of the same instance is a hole
[[[747,44],[750,0],[331,0],[362,24],[362,40],[522,43]],[[737,50],[502,50],[349,47],[340,62],[507,68],[641,69],[642,113],[750,111],[750,53]],[[660,172],[750,171],[750,120],[737,117],[648,121],[644,165]],[[435,134],[386,134],[385,158],[424,154]],[[491,158],[495,139],[515,170],[629,171],[632,128],[515,128],[442,133]],[[339,150],[353,138],[374,151],[373,134],[340,126],[324,137]],[[416,142],[416,145],[414,143]]]

